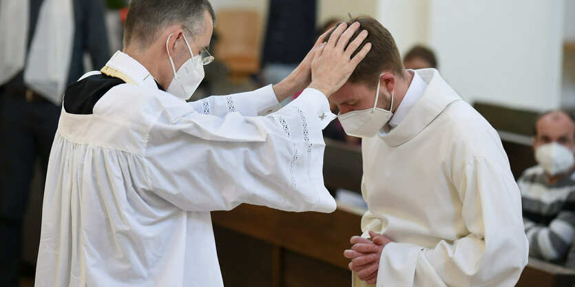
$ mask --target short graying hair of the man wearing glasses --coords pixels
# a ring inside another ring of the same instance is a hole
[[[124,46],[145,49],[160,30],[174,24],[182,24],[199,34],[204,29],[205,11],[216,26],[216,13],[208,0],[132,0],[126,17]]]

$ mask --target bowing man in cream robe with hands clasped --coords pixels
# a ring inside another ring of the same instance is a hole
[[[527,240],[498,134],[437,70],[405,70],[377,20],[351,21],[372,47],[330,100],[363,138],[368,211],[344,251],[354,286],[514,286]]]

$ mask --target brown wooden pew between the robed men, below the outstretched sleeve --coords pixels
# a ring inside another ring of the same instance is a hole
[[[359,215],[341,210],[290,213],[242,204],[233,211],[213,212],[212,220],[225,286],[351,283],[343,252],[360,232]]]

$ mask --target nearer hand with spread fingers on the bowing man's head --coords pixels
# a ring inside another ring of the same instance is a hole
[[[327,97],[346,83],[355,67],[371,49],[371,43],[366,43],[362,50],[359,50],[351,58],[355,50],[368,36],[368,32],[366,30],[359,32],[357,37],[350,42],[353,34],[359,29],[359,23],[355,22],[346,28],[346,23],[337,26],[329,40],[315,50],[311,63],[311,84],[309,87],[320,90]]]

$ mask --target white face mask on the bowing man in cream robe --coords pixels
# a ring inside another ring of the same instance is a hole
[[[342,127],[344,128],[344,131],[346,131],[346,134],[357,136],[359,138],[371,138],[375,136],[377,131],[379,131],[381,127],[384,127],[391,116],[393,116],[393,113],[391,112],[391,109],[393,109],[393,91],[391,92],[391,106],[389,111],[375,107],[377,105],[377,98],[379,98],[381,76],[384,74],[379,75],[373,108],[364,109],[362,111],[348,111],[346,114],[337,115],[339,123],[342,123]]]

